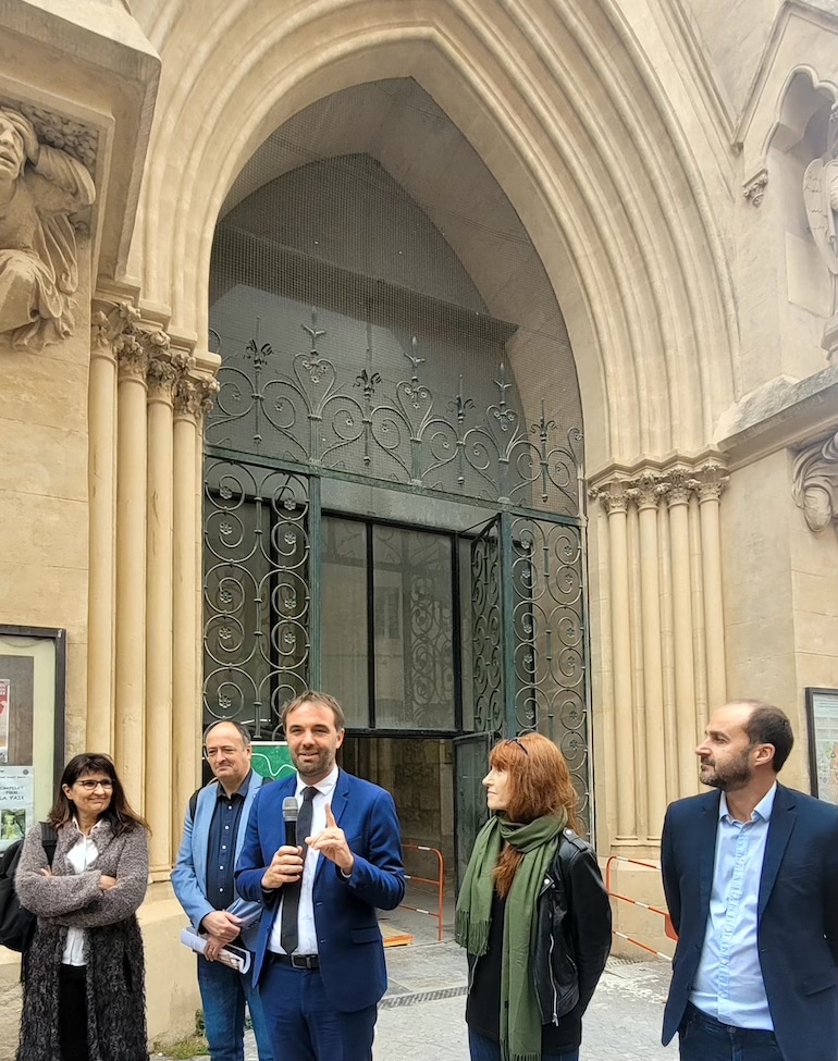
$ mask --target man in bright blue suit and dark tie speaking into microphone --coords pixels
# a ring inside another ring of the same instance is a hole
[[[405,891],[395,805],[335,765],[344,714],[334,698],[303,693],[283,725],[297,776],[259,793],[236,866],[239,893],[266,908],[254,977],[274,1058],[371,1061],[386,989],[375,908],[393,910]],[[285,842],[288,798],[297,846]]]

